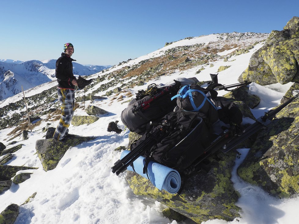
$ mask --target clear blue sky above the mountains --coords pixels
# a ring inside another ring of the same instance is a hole
[[[114,65],[186,37],[282,30],[298,10],[298,0],[4,0],[0,59],[57,59],[71,42],[78,63]]]

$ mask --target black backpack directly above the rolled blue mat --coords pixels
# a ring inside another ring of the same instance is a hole
[[[184,113],[177,110],[164,116],[158,125],[132,143],[131,151],[157,131],[163,132],[163,137],[156,138],[157,142],[149,145],[143,156],[147,161],[156,161],[179,172],[183,172],[204,154],[204,144],[209,142],[212,135],[212,131],[207,128],[197,112]]]

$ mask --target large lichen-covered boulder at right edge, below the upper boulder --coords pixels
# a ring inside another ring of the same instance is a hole
[[[245,181],[279,197],[299,193],[299,102],[294,100],[257,137],[238,169]]]

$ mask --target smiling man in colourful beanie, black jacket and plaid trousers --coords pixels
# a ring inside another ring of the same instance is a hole
[[[53,138],[60,142],[65,142],[68,135],[68,127],[71,123],[75,106],[75,85],[77,79],[73,74],[71,58],[74,53],[74,46],[71,43],[64,45],[64,53],[56,61],[55,76],[58,82],[58,100],[61,105],[61,118],[54,132]]]

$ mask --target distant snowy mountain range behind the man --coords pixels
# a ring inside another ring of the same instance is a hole
[[[24,90],[55,80],[56,60],[19,61],[0,59],[0,100],[14,96]],[[81,65],[73,62],[75,75],[90,75],[111,66]]]

